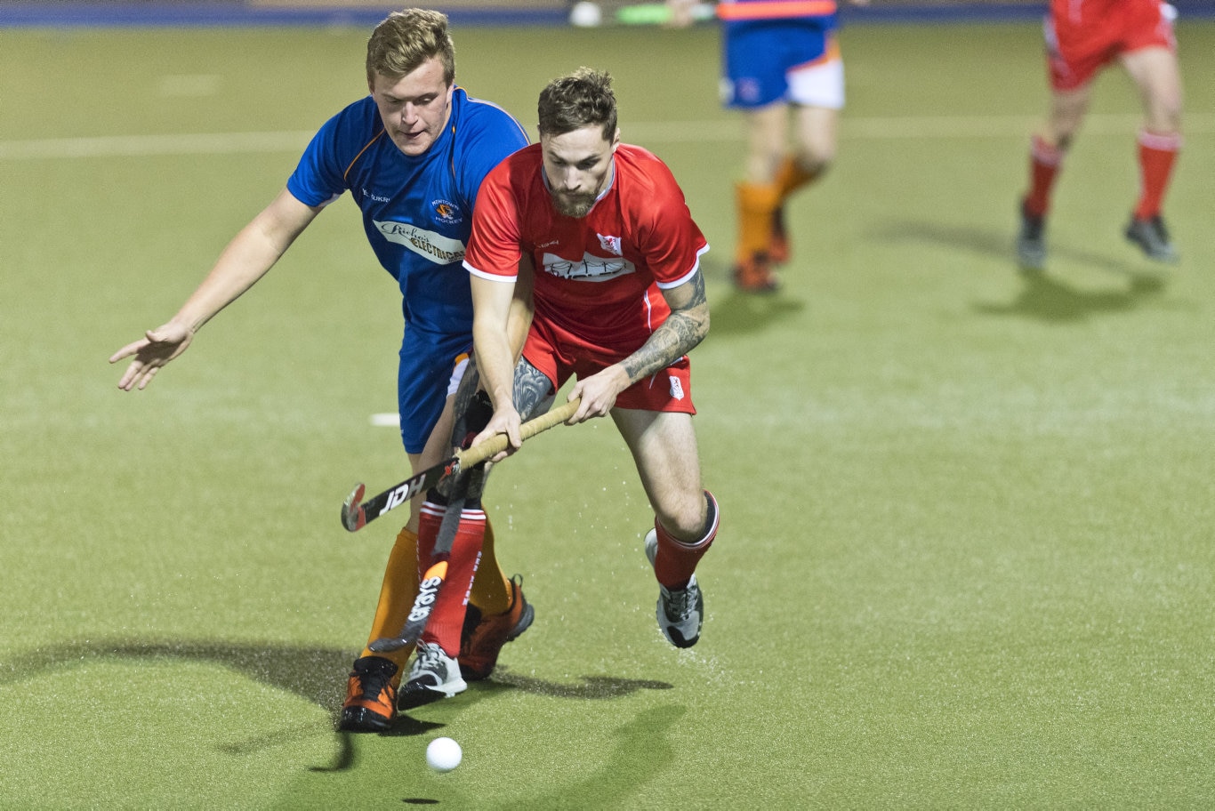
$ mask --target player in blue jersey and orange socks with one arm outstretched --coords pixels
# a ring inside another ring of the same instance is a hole
[[[111,357],[114,363],[135,356],[119,387],[147,386],[203,324],[256,283],[324,206],[349,189],[375,256],[402,295],[397,395],[409,466],[417,473],[448,456],[452,395],[471,351],[473,302],[462,260],[473,206],[485,175],[527,143],[515,119],[469,97],[454,78],[456,52],[445,15],[407,8],[384,19],[367,42],[371,95],[321,127],[286,191],[228,243],[177,314]],[[513,325],[519,344],[525,328]],[[419,517],[417,503],[411,507],[389,555],[368,641],[401,630],[418,590],[419,531],[429,532],[434,544],[437,524]],[[484,514],[481,521],[486,523]],[[481,577],[470,596],[471,622],[468,629],[456,629],[464,675],[473,679],[490,675],[502,645],[526,630],[532,618],[518,580],[499,569],[492,540],[487,531],[484,551],[480,544],[475,550]],[[470,579],[476,567],[474,560],[460,571]],[[451,588],[463,597],[469,583]],[[391,726],[411,653],[363,650],[350,673],[343,730]],[[419,669],[418,662],[414,665]],[[456,687],[463,690],[464,681],[453,680]]]

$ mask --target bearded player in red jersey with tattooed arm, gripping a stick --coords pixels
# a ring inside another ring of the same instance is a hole
[[[493,406],[476,439],[520,446],[520,413],[571,376],[570,424],[611,414],[656,512],[645,551],[660,586],[659,628],[677,647],[700,639],[695,569],[718,527],[701,488],[686,353],[708,331],[700,256],[708,250],[666,164],[620,142],[611,79],[589,68],[539,96],[539,143],[481,186],[464,266],[473,344]],[[515,364],[507,316],[520,260],[535,317]]]

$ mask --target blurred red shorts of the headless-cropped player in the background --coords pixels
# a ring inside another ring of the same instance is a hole
[[[1052,0],[1046,18],[1051,87],[1078,90],[1124,53],[1177,50],[1172,13],[1160,0]]]

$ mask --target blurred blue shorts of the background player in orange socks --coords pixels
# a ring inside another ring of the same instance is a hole
[[[790,73],[833,53],[835,17],[728,23],[723,38],[723,102],[752,109],[790,98]]]

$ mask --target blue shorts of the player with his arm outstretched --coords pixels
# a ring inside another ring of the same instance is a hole
[[[473,351],[470,335],[433,336],[406,327],[396,374],[396,404],[406,453],[422,453],[451,391],[452,373]]]

